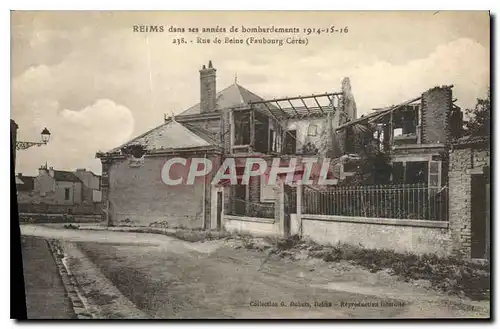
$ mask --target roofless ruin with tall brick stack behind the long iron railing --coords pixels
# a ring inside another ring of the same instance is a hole
[[[435,87],[417,98],[341,124],[336,128],[341,152],[359,154],[372,147],[386,153],[393,184],[446,185],[448,150],[452,140],[460,137],[463,125],[452,88]]]

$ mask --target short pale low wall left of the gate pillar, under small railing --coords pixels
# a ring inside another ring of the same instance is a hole
[[[271,218],[224,215],[223,225],[228,232],[248,233],[257,236],[280,234],[279,222]]]

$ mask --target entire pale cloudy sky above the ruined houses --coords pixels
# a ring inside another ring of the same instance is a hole
[[[164,32],[134,32],[163,26]],[[231,26],[238,32],[231,33]],[[241,27],[300,33],[243,33]],[[304,28],[346,33],[313,33]],[[170,27],[185,32],[169,32]],[[190,33],[188,28],[226,28]],[[347,28],[347,29],[346,29]],[[307,38],[307,44],[197,44],[196,38]],[[175,44],[184,38],[187,43]],[[191,43],[190,41],[193,40]],[[358,116],[453,85],[473,107],[490,81],[488,12],[64,12],[11,14],[11,117],[18,140],[50,142],[18,151],[16,171],[40,165],[101,173],[108,151],[199,102],[199,70],[212,61],[217,90],[237,82],[263,98],[340,91],[351,80]]]

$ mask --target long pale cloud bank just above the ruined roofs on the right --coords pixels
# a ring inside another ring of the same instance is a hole
[[[243,85],[248,74],[249,81],[255,81],[249,89],[267,97],[339,91],[342,78],[350,77],[359,114],[415,98],[437,85],[454,85],[457,104],[472,107],[477,97],[485,95],[490,73],[488,49],[467,38],[402,64],[343,50],[324,50],[299,60],[284,57],[266,66],[231,64],[241,69],[238,77]],[[260,83],[258,77],[266,76],[266,82]]]

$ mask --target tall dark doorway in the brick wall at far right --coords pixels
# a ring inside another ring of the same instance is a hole
[[[486,180],[471,175],[471,257],[486,258]]]

